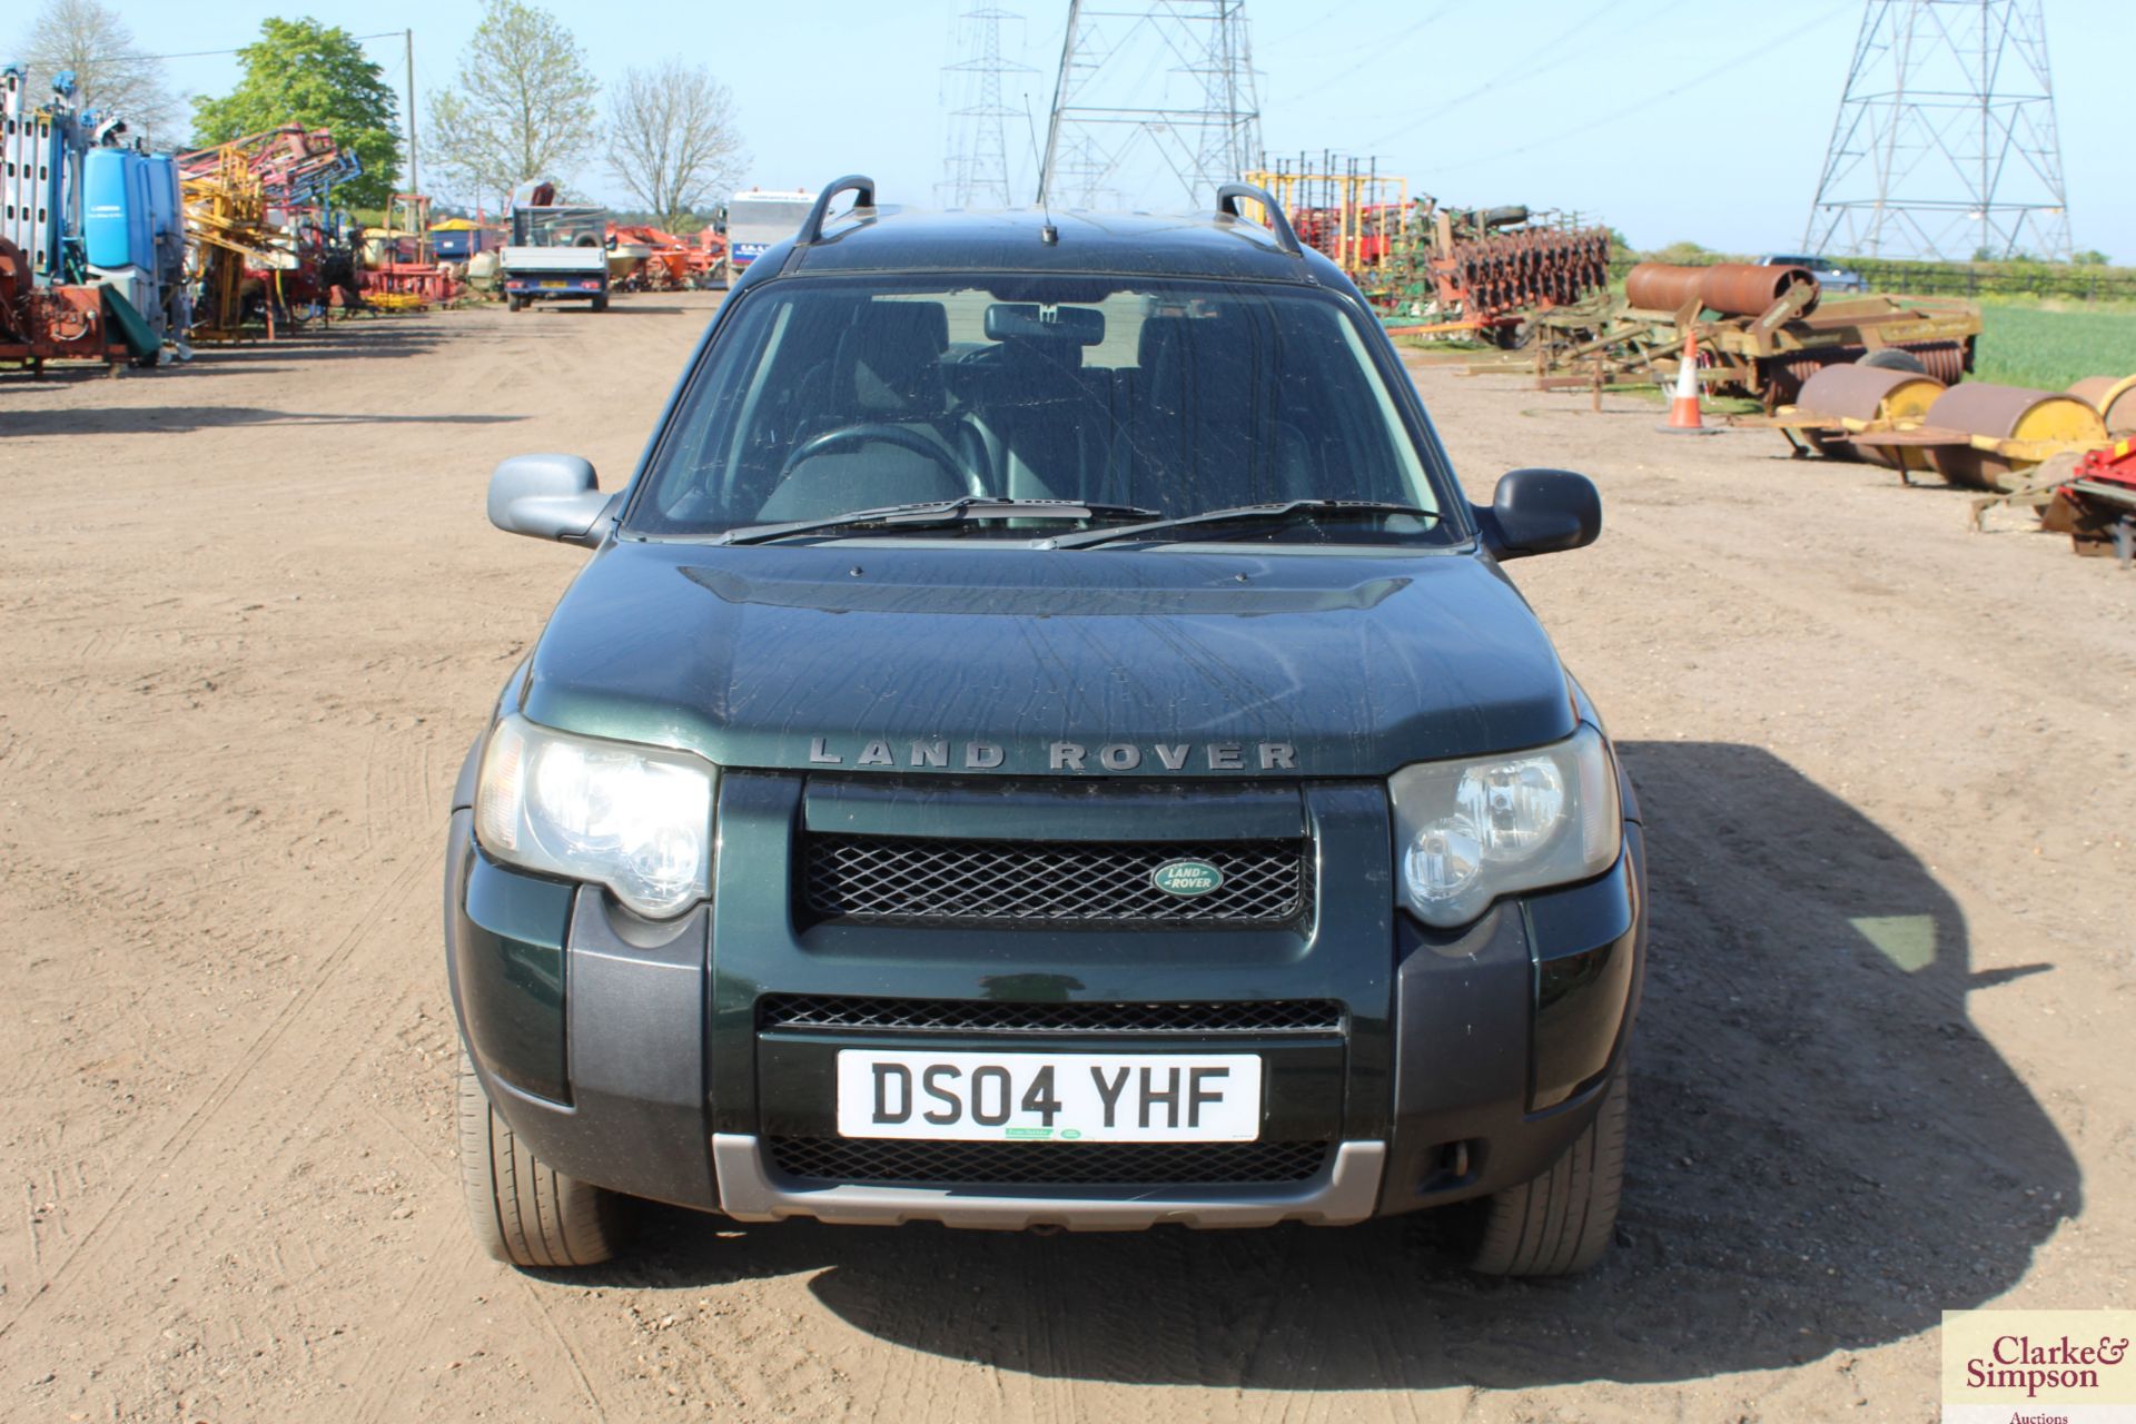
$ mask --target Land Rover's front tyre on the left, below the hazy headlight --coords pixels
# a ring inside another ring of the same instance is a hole
[[[564,1176],[530,1153],[459,1055],[459,1185],[474,1238],[511,1266],[596,1266],[622,1240],[619,1198]]]

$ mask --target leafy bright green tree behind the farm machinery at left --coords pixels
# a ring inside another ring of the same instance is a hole
[[[335,188],[350,207],[384,207],[399,179],[402,135],[393,85],[357,38],[316,19],[263,19],[261,38],[237,51],[244,79],[222,98],[192,100],[201,147],[282,124],[325,128],[363,160],[363,177]]]

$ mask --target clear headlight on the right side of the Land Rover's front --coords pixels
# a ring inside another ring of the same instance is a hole
[[[1401,890],[1425,924],[1467,924],[1499,895],[1600,875],[1617,863],[1623,809],[1602,732],[1388,777]]]

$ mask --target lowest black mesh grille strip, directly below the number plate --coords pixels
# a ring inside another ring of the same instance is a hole
[[[788,1176],[931,1187],[1241,1187],[1299,1183],[1326,1142],[884,1142],[771,1138]]]

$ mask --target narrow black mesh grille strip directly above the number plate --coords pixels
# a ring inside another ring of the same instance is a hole
[[[765,1029],[861,1029],[880,1033],[1341,1033],[1333,999],[1237,999],[1215,1003],[995,1003],[991,999],[863,999],[767,995]]]

